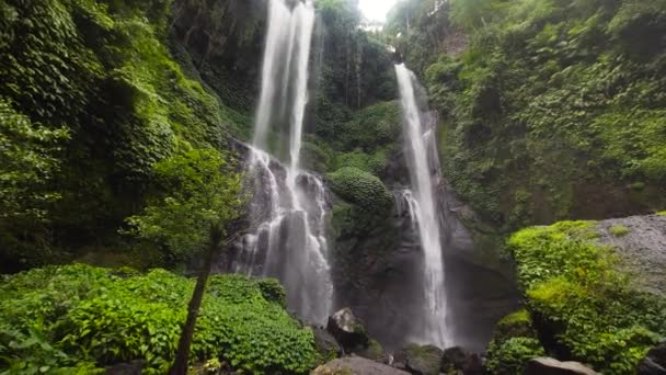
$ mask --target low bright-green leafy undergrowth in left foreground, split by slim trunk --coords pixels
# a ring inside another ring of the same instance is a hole
[[[192,348],[196,360],[225,360],[256,374],[305,374],[314,366],[312,331],[264,298],[262,284],[280,294],[275,281],[210,279]],[[162,270],[118,275],[85,265],[8,277],[0,286],[7,296],[0,302],[0,368],[91,374],[140,359],[147,374],[164,373],[193,286],[194,281]]]

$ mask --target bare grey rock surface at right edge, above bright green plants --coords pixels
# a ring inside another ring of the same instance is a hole
[[[622,265],[633,274],[634,285],[666,297],[666,216],[630,216],[602,220],[598,241],[611,246]]]

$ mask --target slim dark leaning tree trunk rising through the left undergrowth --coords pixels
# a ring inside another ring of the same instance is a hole
[[[204,300],[204,292],[206,292],[206,283],[210,275],[210,266],[213,264],[213,255],[219,250],[220,242],[222,240],[222,230],[219,227],[210,227],[210,245],[206,251],[206,258],[204,259],[204,266],[199,271],[196,279],[196,286],[192,294],[192,299],[187,306],[187,320],[181,333],[181,340],[179,341],[179,350],[176,352],[175,362],[169,372],[170,375],[186,375],[187,374],[187,362],[190,357],[190,346],[192,345],[192,338],[194,336],[194,328],[196,327],[196,318],[199,315],[199,307]]]

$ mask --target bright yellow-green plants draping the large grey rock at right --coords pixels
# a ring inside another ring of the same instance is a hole
[[[666,336],[666,302],[632,287],[612,252],[594,242],[590,221],[524,229],[508,246],[527,308],[558,344],[605,374],[634,371]]]

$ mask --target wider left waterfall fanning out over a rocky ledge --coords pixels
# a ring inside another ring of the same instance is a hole
[[[325,237],[329,202],[322,181],[299,169],[313,25],[311,0],[269,1],[262,91],[246,173],[252,234],[243,238],[233,268],[279,279],[289,308],[323,323],[333,295]],[[283,152],[274,158],[269,150]]]

